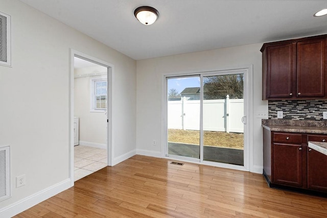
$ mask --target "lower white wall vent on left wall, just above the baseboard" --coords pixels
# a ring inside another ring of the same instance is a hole
[[[10,197],[9,146],[0,148],[0,201]]]

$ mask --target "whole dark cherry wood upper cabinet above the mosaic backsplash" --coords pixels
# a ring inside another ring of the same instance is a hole
[[[263,100],[327,98],[327,35],[262,46]]]

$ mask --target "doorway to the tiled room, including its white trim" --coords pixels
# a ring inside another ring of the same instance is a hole
[[[112,65],[72,50],[71,184],[111,164]]]

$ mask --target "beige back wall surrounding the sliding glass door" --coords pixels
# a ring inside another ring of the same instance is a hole
[[[232,69],[253,66],[253,94],[250,104],[253,108],[248,117],[250,141],[253,152],[249,160],[252,172],[262,173],[262,127],[257,111],[267,111],[267,101],[261,100],[261,48],[262,44],[250,44],[225,49],[210,50],[162,58],[137,61],[137,104],[136,104],[136,147],[138,153],[161,156],[162,137],[162,85],[164,75],[182,72]],[[150,82],[151,81],[151,82]],[[156,146],[152,141],[156,140]]]

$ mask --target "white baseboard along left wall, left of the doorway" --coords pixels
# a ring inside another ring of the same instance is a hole
[[[26,197],[16,203],[13,203],[7,207],[0,209],[0,217],[12,217],[22,211],[33,207],[36,204],[49,199],[61,191],[64,191],[71,187],[71,179],[66,179],[62,182],[59,182],[53,186],[45,188],[39,192],[34,193],[33,195]]]

